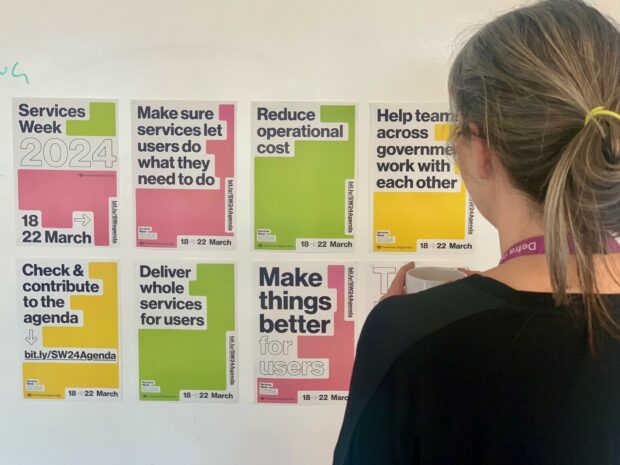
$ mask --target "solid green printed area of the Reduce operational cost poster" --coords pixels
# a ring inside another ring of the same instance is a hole
[[[323,105],[322,122],[344,122],[346,141],[296,141],[295,156],[254,158],[254,229],[276,242],[259,249],[295,249],[298,238],[347,238],[345,180],[355,178],[355,106]],[[256,241],[256,237],[254,237]]]

